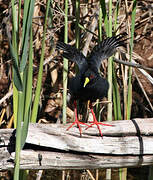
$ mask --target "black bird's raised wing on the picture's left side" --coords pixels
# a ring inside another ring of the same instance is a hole
[[[56,48],[63,50],[62,56],[72,62],[75,62],[78,65],[80,72],[87,69],[88,63],[86,61],[86,57],[78,49],[60,41],[57,42]]]

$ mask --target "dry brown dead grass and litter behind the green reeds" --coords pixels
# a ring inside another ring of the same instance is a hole
[[[73,1],[69,1],[69,43],[75,43],[75,5]],[[115,6],[114,2],[114,6]],[[127,7],[128,6],[128,7]],[[81,1],[80,24],[85,28],[81,30],[81,49],[84,54],[91,51],[98,40],[98,9],[99,3],[97,0]],[[128,31],[131,22],[131,1],[127,4],[125,1],[121,3],[120,15],[118,23],[120,32]],[[43,34],[43,24],[45,16],[46,4],[44,1],[36,1],[33,31],[34,31],[34,82],[33,89],[36,87],[38,66],[41,54],[41,42]],[[62,110],[62,70],[63,62],[59,54],[54,50],[54,44],[57,40],[64,39],[64,1],[55,0],[52,5],[53,23],[48,24],[43,87],[40,99],[40,108],[38,122],[55,123],[60,120]],[[125,13],[126,12],[126,13]],[[22,18],[22,17],[21,17]],[[13,127],[13,108],[12,108],[12,64],[9,52],[8,39],[6,28],[9,26],[11,31],[11,9],[9,1],[2,0],[0,2],[0,128]],[[136,15],[136,30],[134,39],[133,59],[144,66],[153,68],[153,6],[152,1],[145,0],[138,2]],[[87,31],[88,30],[88,31]],[[92,33],[91,33],[92,32]],[[105,36],[103,28],[103,36]],[[127,49],[128,52],[128,49]],[[123,60],[128,60],[126,55],[123,55]],[[116,64],[118,68],[117,80],[120,85],[121,100],[123,102],[123,81],[125,67]],[[103,63],[102,70],[106,76],[107,62]],[[75,73],[74,64],[69,64],[69,77]],[[152,76],[153,73],[148,73]],[[145,118],[152,117],[153,112],[151,105],[153,104],[153,88],[148,79],[139,71],[133,73],[133,99],[132,99],[132,117]],[[141,84],[141,85],[140,85]],[[145,92],[145,93],[144,93]],[[144,95],[146,94],[146,95]],[[122,104],[123,106],[123,104]],[[67,108],[67,121],[73,120],[73,112],[71,105]],[[106,119],[103,113],[103,119]],[[61,172],[60,172],[61,173]],[[71,172],[70,172],[71,173]],[[83,179],[83,173],[80,172],[79,179]],[[90,173],[86,179],[92,179]],[[45,172],[43,174],[46,174]],[[66,171],[66,174],[68,172]],[[73,173],[72,173],[73,174]],[[75,174],[75,173],[74,173]],[[76,173],[77,174],[77,173]],[[68,176],[68,175],[67,175]],[[75,175],[73,175],[75,176]],[[71,175],[72,177],[72,175]],[[82,177],[82,178],[81,178]],[[61,176],[60,176],[61,178]],[[59,178],[59,179],[60,179]],[[78,177],[77,177],[78,178]],[[68,179],[68,177],[67,177]],[[115,179],[115,178],[114,178]],[[131,178],[132,179],[132,178]]]

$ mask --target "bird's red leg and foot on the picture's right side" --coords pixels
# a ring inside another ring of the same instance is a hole
[[[91,102],[90,102],[90,104],[89,104],[89,108],[90,108],[91,113],[92,113],[92,116],[93,116],[93,122],[92,122],[92,124],[91,124],[90,126],[88,126],[86,129],[92,127],[93,125],[96,125],[97,128],[98,128],[98,130],[99,130],[100,135],[103,136],[99,125],[103,125],[103,126],[112,126],[112,125],[110,125],[110,124],[105,124],[105,123],[102,123],[102,122],[98,122],[98,121],[97,121],[96,116],[95,116],[95,113],[94,113],[94,111],[93,111],[93,106],[92,106],[92,103],[91,103]]]

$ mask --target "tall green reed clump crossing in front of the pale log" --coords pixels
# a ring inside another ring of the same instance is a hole
[[[20,150],[24,146],[24,142],[25,142],[26,135],[27,135],[26,133],[27,133],[27,130],[28,130],[28,124],[26,124],[27,120],[25,121],[26,126],[25,126],[25,124],[23,124],[24,132],[22,131],[23,129],[21,127],[21,122],[24,120],[25,98],[26,98],[27,87],[28,87],[27,86],[27,78],[28,78],[27,70],[28,70],[28,68],[26,66],[26,62],[27,62],[29,33],[30,33],[31,25],[32,25],[34,3],[35,3],[34,0],[30,1],[30,7],[28,8],[27,14],[24,14],[26,17],[28,17],[27,19],[29,19],[29,21],[27,21],[27,22],[25,21],[26,25],[24,26],[25,29],[23,30],[24,33],[26,34],[24,36],[24,37],[26,37],[25,38],[26,40],[23,41],[25,44],[24,43],[21,44],[22,45],[21,46],[22,47],[21,48],[22,49],[22,51],[21,51],[21,61],[20,61],[20,59],[18,57],[19,44],[20,44],[20,42],[19,42],[19,27],[20,27],[20,15],[21,15],[20,14],[21,13],[21,1],[19,1],[19,5],[18,5],[18,16],[17,16],[17,13],[16,13],[16,17],[15,17],[15,15],[13,16],[13,29],[15,29],[15,27],[14,27],[16,25],[15,22],[18,22],[18,25],[17,25],[18,29],[15,30],[16,33],[14,33],[14,31],[13,31],[13,36],[12,36],[12,40],[13,40],[12,44],[13,45],[11,44],[11,41],[10,41],[11,36],[9,36],[10,52],[11,52],[12,61],[13,61],[13,73],[14,73],[13,74],[13,81],[14,81],[14,85],[16,86],[16,89],[17,89],[16,94],[18,96],[18,103],[17,103],[16,109],[15,109],[15,113],[17,113],[17,118],[16,118],[17,123],[16,123],[16,146],[15,146],[14,180],[19,179],[19,174],[20,174]],[[31,6],[31,5],[33,5],[33,6]],[[15,11],[14,1],[13,0],[12,0],[12,11]],[[23,17],[23,19],[26,18],[26,17]],[[17,39],[17,37],[18,37],[18,39]],[[24,58],[22,58],[22,57],[24,57]],[[22,65],[22,60],[23,59],[25,61],[23,63],[24,66]],[[32,85],[31,85],[31,87],[32,87]],[[25,119],[28,119],[28,118],[29,118],[29,116],[27,116]]]

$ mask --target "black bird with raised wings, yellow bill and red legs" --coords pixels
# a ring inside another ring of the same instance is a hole
[[[56,48],[63,50],[62,56],[72,62],[75,62],[79,68],[79,73],[74,78],[70,79],[69,82],[70,94],[74,100],[75,122],[72,123],[72,125],[68,127],[67,130],[69,130],[73,125],[77,124],[81,135],[82,131],[80,124],[85,124],[78,120],[76,101],[87,102],[90,100],[89,108],[93,115],[93,122],[91,125],[85,124],[88,126],[87,128],[96,124],[99,133],[102,136],[99,125],[111,126],[97,121],[93,111],[92,102],[107,96],[109,83],[99,74],[101,61],[112,56],[116,52],[117,47],[125,46],[125,35],[126,34],[123,33],[117,36],[106,38],[94,47],[88,57],[85,57],[78,49],[71,45],[65,44],[63,42],[57,42]]]

